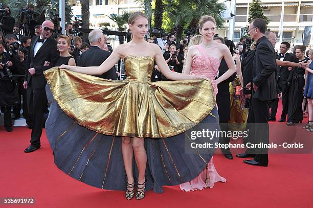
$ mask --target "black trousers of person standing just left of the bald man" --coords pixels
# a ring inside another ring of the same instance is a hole
[[[19,96],[20,101],[22,100],[21,97],[23,97],[23,104],[20,102],[19,105],[14,106],[13,107],[13,113],[14,113],[15,117],[18,117],[20,115],[20,110],[23,107],[23,117],[25,118],[26,123],[29,126],[32,126],[32,119],[31,119],[31,115],[28,112],[28,106],[27,106],[27,90],[24,89],[23,83],[24,83],[24,78],[18,79],[18,81],[17,81],[18,96]]]

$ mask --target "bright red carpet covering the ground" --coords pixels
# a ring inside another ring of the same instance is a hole
[[[278,112],[280,116],[281,107]],[[217,154],[215,167],[227,183],[188,193],[181,192],[178,186],[165,187],[163,194],[148,191],[141,201],[127,201],[122,191],[93,188],[59,171],[44,132],[41,149],[24,153],[30,133],[26,127],[14,127],[13,132],[0,127],[0,198],[34,198],[35,204],[31,207],[302,208],[312,205],[312,154],[270,154],[269,167],[248,166],[240,158],[228,160]],[[273,133],[279,135],[280,132],[271,132],[270,141],[275,140]]]

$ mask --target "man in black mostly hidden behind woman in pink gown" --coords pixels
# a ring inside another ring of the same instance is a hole
[[[225,40],[221,37],[215,37],[214,42],[225,44]],[[235,61],[236,62],[236,61]],[[218,77],[222,76],[224,73],[228,71],[228,65],[225,59],[222,59],[219,67],[218,67]],[[222,81],[217,85],[218,93],[216,95],[216,104],[218,106],[218,117],[220,123],[220,130],[221,131],[228,131],[228,121],[230,120],[230,93],[229,93],[229,83],[234,81],[236,78],[236,73],[230,76],[228,79]],[[223,137],[219,138],[220,144],[229,144],[230,137]],[[230,151],[230,148],[220,148],[222,153],[228,159],[233,159],[233,155]]]

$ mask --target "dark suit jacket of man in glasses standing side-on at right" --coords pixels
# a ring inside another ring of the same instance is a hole
[[[253,83],[258,87],[253,95],[254,98],[262,101],[277,98],[275,59],[272,43],[265,36],[258,39],[252,67]]]

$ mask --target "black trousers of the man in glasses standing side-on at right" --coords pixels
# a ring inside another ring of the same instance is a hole
[[[269,112],[268,101],[262,101],[252,98],[250,123],[253,125],[251,136],[254,137],[256,144],[269,144],[270,132],[269,123],[267,123],[267,114]],[[249,114],[250,114],[249,113]],[[267,165],[269,163],[268,148],[257,148],[254,160],[258,163]]]

